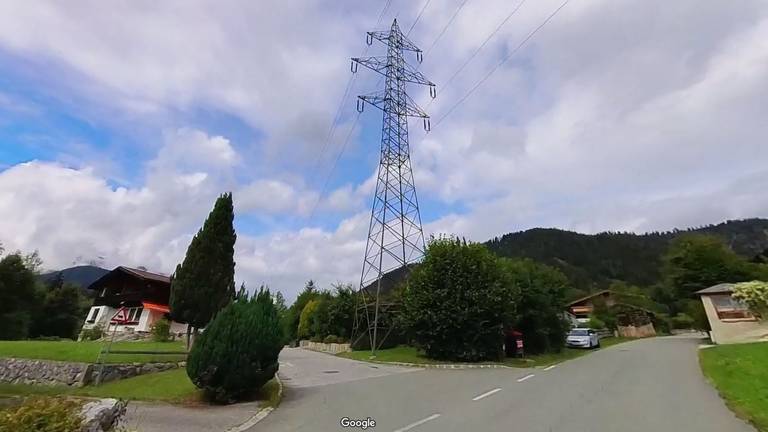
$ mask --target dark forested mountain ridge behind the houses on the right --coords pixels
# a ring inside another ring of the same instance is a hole
[[[580,234],[556,228],[534,228],[505,234],[486,245],[499,256],[531,258],[559,268],[581,290],[605,287],[612,280],[648,286],[659,281],[661,257],[682,233],[721,237],[739,255],[766,255],[768,219],[727,221],[686,230],[646,234],[604,232]]]

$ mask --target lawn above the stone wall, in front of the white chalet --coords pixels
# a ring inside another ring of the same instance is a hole
[[[44,360],[94,363],[99,351],[106,347],[96,341],[0,341],[0,357],[16,357]],[[184,344],[176,342],[115,342],[111,350],[181,352]],[[110,354],[107,363],[147,363],[181,361],[184,354]]]

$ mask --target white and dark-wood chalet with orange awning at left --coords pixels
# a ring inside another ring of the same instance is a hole
[[[119,333],[148,333],[152,324],[168,317],[171,295],[171,279],[168,276],[120,266],[92,283],[88,289],[96,292],[96,299],[83,328],[101,325],[105,330]],[[126,308],[128,322],[125,324],[117,324],[113,320],[120,307]],[[185,332],[186,324],[171,322],[171,333]]]

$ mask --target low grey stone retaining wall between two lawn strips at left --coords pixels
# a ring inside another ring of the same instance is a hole
[[[103,366],[104,379],[101,382],[162,372],[185,365],[185,362],[105,364]],[[94,382],[101,370],[101,366],[89,363],[0,358],[0,382],[11,384],[82,387]]]

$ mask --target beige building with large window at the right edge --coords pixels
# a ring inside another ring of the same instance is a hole
[[[697,291],[716,344],[768,340],[768,321],[759,320],[742,302],[731,296],[733,284],[723,283]]]

